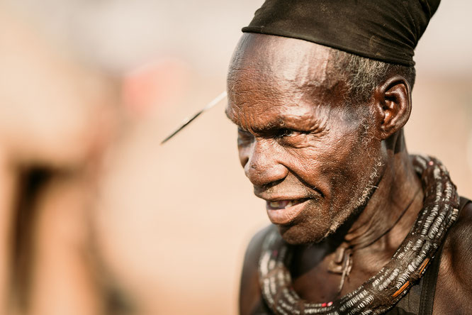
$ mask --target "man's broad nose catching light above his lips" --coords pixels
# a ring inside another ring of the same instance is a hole
[[[254,140],[246,151],[245,174],[255,186],[270,184],[288,175],[288,169],[280,162],[281,153],[269,142]]]

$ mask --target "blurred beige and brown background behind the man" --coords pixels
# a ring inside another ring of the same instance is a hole
[[[262,0],[0,0],[0,314],[237,314],[269,223],[237,158],[227,65]],[[472,197],[472,3],[416,50],[411,153]]]

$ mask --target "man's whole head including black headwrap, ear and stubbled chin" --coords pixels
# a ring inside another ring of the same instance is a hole
[[[227,116],[254,193],[289,243],[362,208],[403,150],[414,49],[439,0],[266,0],[238,44]]]

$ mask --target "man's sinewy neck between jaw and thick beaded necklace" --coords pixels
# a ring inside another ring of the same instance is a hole
[[[376,191],[338,241],[363,255],[382,253],[390,258],[422,209],[423,192],[405,148],[403,133],[390,139],[387,152],[388,161]],[[382,259],[377,261],[383,263]]]

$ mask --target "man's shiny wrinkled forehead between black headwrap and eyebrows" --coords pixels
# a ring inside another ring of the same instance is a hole
[[[276,110],[304,97],[322,101],[339,85],[330,58],[331,48],[305,40],[244,34],[228,71],[227,113],[254,105]]]

